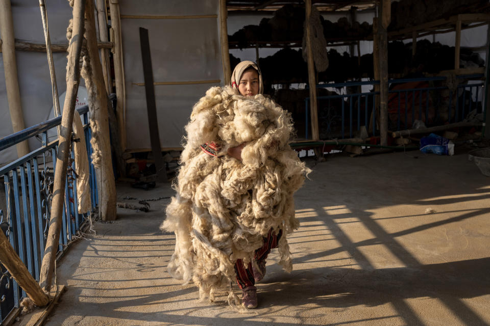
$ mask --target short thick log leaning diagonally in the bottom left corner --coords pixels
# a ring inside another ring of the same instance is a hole
[[[4,232],[0,230],[0,262],[7,268],[10,275],[26,291],[36,306],[43,307],[50,302],[50,297],[44,293],[36,280],[32,277],[26,265],[20,260],[10,245]]]

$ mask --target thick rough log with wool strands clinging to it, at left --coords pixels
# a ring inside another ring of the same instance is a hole
[[[85,84],[92,100],[90,108],[90,125],[92,129],[93,152],[92,161],[98,171],[97,177],[100,185],[99,207],[103,221],[114,221],[116,219],[116,183],[114,171],[112,170],[111,143],[109,137],[109,115],[107,112],[108,96],[106,93],[102,64],[99,60],[99,49],[97,48],[97,36],[95,30],[95,16],[93,13],[93,2],[87,1],[85,10],[85,39],[87,40],[87,54],[90,58],[90,66],[84,66]],[[92,96],[95,93],[96,96]],[[97,157],[93,157],[93,155]],[[98,161],[98,163],[97,163]]]

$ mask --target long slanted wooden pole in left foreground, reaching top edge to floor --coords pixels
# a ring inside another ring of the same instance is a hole
[[[53,200],[51,204],[50,229],[46,239],[46,248],[42,258],[39,282],[45,291],[51,289],[53,271],[55,268],[56,252],[59,246],[61,219],[65,194],[66,167],[70,149],[73,114],[77,102],[78,86],[80,84],[80,52],[83,43],[85,0],[75,0],[73,5],[73,28],[68,49],[68,65],[66,67],[66,96],[61,118],[58,154],[56,160]]]

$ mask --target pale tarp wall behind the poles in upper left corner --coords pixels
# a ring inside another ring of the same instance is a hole
[[[39,2],[32,0],[11,0],[14,22],[14,37],[30,43],[44,44],[41,11]],[[71,7],[66,0],[46,1],[50,24],[51,42],[67,43],[66,28],[71,18]],[[0,35],[2,31],[0,31]],[[27,127],[46,121],[53,107],[50,69],[45,52],[16,51],[17,74],[19,79],[20,99]],[[58,91],[66,90],[66,53],[53,53]],[[4,64],[0,53],[0,138],[13,132],[10,120],[7,90],[5,87]],[[29,141],[31,150],[38,148],[40,142]],[[17,158],[15,146],[0,152],[0,164]]]

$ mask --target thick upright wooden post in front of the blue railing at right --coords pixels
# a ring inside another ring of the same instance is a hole
[[[381,146],[388,145],[388,34],[386,29],[390,22],[391,0],[381,1],[381,24],[379,34],[379,129]]]

